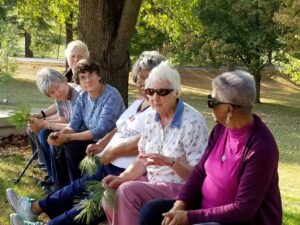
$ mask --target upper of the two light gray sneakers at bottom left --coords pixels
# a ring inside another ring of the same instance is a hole
[[[6,189],[6,198],[12,209],[18,214],[17,216],[19,218],[31,222],[36,221],[37,215],[31,211],[33,199],[19,197],[11,188]],[[13,217],[15,218],[16,216]]]

